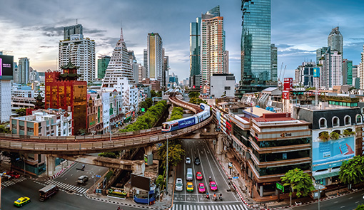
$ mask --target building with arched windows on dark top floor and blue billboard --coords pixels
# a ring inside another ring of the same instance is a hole
[[[363,115],[358,107],[343,107],[320,103],[293,107],[293,117],[311,123],[312,174],[323,185],[338,184],[343,161],[355,156],[358,134],[363,127]],[[361,144],[360,139],[360,144]]]

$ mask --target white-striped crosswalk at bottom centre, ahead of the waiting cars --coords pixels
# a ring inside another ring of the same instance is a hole
[[[221,204],[221,205],[186,205],[173,204],[171,210],[248,210],[243,204]]]

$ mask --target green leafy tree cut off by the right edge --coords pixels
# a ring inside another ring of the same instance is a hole
[[[364,157],[355,156],[341,164],[339,179],[344,184],[364,182]]]

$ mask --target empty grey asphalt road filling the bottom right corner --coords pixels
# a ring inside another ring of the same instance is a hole
[[[350,210],[355,209],[358,204],[364,204],[363,199],[364,191],[358,191],[353,194],[340,196],[337,198],[320,201],[320,210]],[[308,204],[303,206],[294,207],[294,210],[311,210],[318,209],[318,203]]]

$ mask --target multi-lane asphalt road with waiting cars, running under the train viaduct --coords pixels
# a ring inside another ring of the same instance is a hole
[[[183,160],[177,166],[176,178],[182,178],[183,191],[175,191],[173,197],[172,209],[248,209],[241,200],[231,191],[231,185],[228,182],[225,172],[221,169],[216,158],[214,157],[211,149],[209,149],[205,140],[182,140],[182,147],[186,151],[186,157],[191,158],[191,164],[186,164]],[[199,157],[201,164],[194,164],[195,157]],[[186,181],[187,168],[193,170],[193,180]],[[196,172],[203,174],[201,181],[196,180]],[[209,188],[208,177],[218,185],[217,191],[211,191]],[[186,182],[193,182],[193,192],[186,191]],[[213,199],[206,199],[206,194],[198,193],[198,183],[203,183],[207,191],[212,196],[213,193],[223,194],[222,201],[213,201]]]

